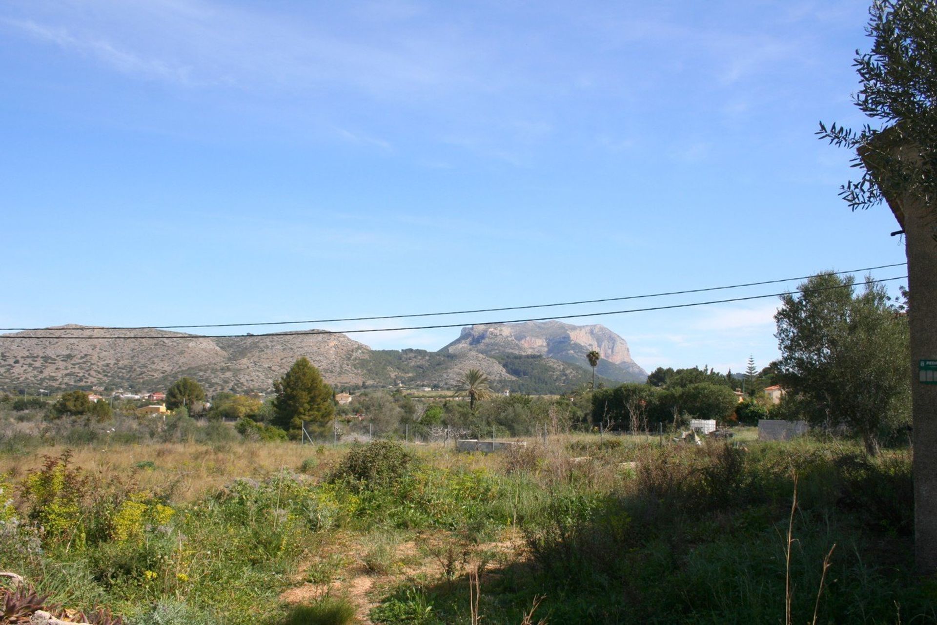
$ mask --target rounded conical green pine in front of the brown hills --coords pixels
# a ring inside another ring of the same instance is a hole
[[[303,422],[327,424],[335,414],[332,387],[305,357],[274,382],[274,390],[274,425],[286,430],[291,439],[302,436]]]

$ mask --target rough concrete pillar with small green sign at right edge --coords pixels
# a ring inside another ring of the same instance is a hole
[[[860,150],[876,177],[879,158],[915,158],[917,151],[888,145],[885,130],[875,151]],[[880,188],[888,188],[879,185]],[[908,320],[911,326],[912,444],[915,480],[915,564],[919,573],[937,572],[937,206],[916,194],[885,196],[904,233],[908,258]],[[900,232],[900,231],[899,231]],[[874,356],[871,356],[874,357]]]

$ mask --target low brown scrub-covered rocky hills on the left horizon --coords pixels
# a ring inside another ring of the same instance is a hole
[[[150,338],[119,338],[128,334]],[[218,338],[78,325],[21,332],[0,339],[0,386],[165,388],[181,376],[192,376],[215,390],[266,390],[300,356],[319,366],[330,381],[360,380],[351,363],[367,356],[366,345],[346,335],[291,334]],[[37,340],[18,335],[100,338]]]

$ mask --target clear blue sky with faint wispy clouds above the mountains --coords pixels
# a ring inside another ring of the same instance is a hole
[[[849,155],[814,136],[863,121],[866,20],[855,0],[7,1],[0,324],[397,314],[900,262],[893,217],[850,212]],[[777,356],[776,305],[576,322],[648,370],[740,370]]]

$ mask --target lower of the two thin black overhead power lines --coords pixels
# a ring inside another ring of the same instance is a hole
[[[903,264],[903,263],[901,263]],[[893,280],[903,280],[906,279],[907,275],[898,275],[896,277],[886,277],[880,278],[877,280],[869,280],[871,284],[880,283],[880,282],[891,282]],[[834,289],[846,289],[851,288],[854,285],[851,284],[840,284],[833,287],[823,287],[821,289],[809,289],[809,290],[787,290],[780,293],[768,293],[766,295],[749,295],[747,297],[734,297],[731,299],[724,300],[710,300],[708,302],[692,302],[689,304],[672,304],[672,305],[662,305],[662,306],[650,306],[647,308],[631,308],[629,310],[610,310],[604,312],[591,312],[591,313],[580,313],[576,315],[558,315],[556,317],[538,317],[530,319],[512,319],[512,320],[499,320],[499,321],[480,321],[475,323],[445,323],[439,325],[417,325],[401,328],[366,328],[360,330],[309,330],[309,331],[299,331],[299,332],[273,332],[265,335],[168,335],[168,336],[143,336],[143,335],[126,335],[126,336],[89,336],[89,335],[0,335],[0,339],[18,339],[18,338],[29,338],[29,339],[55,339],[55,338],[68,338],[68,339],[79,339],[79,340],[112,340],[112,339],[134,339],[134,340],[163,340],[163,339],[201,339],[201,338],[265,338],[269,336],[307,336],[307,335],[350,335],[350,334],[363,334],[369,332],[402,332],[404,330],[435,330],[439,328],[457,328],[465,325],[498,325],[501,323],[522,323],[524,321],[553,321],[561,319],[580,319],[583,317],[602,317],[606,315],[624,315],[628,313],[636,312],[649,312],[652,310],[670,310],[674,308],[691,308],[693,306],[704,306],[712,304],[729,304],[732,302],[747,302],[750,300],[761,300],[768,297],[781,297],[783,295],[796,295],[803,293],[815,293],[823,290],[834,290]],[[38,328],[41,330],[43,328]],[[126,328],[94,328],[95,330],[120,330]],[[152,329],[152,328],[137,328],[137,329]]]

